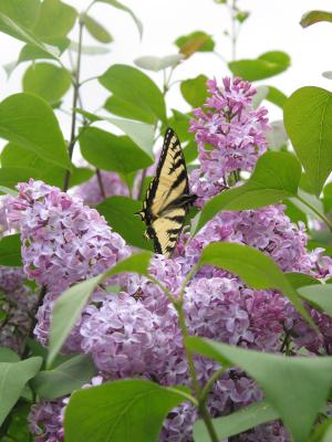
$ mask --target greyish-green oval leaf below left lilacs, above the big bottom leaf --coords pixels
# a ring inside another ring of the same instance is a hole
[[[52,370],[40,371],[31,385],[41,398],[56,399],[89,383],[95,371],[89,355],[77,355]]]

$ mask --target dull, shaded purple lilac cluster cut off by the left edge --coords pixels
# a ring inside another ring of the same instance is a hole
[[[24,285],[22,269],[0,266],[0,347],[20,352],[37,303],[34,293]]]

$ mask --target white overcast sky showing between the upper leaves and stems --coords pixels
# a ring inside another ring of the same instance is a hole
[[[66,0],[79,11],[84,10],[91,0]],[[143,40],[139,41],[137,29],[131,17],[107,4],[98,3],[91,10],[91,15],[98,20],[114,38],[111,52],[106,55],[85,56],[82,65],[82,80],[102,74],[114,63],[133,64],[133,60],[142,55],[169,55],[176,53],[173,44],[179,35],[195,30],[211,34],[216,41],[216,51],[230,60],[230,42],[224,31],[229,28],[229,14],[224,6],[214,0],[123,0],[135,11],[144,25]],[[332,10],[328,0],[239,0],[239,7],[250,11],[250,18],[243,24],[238,41],[238,59],[256,57],[263,52],[286,51],[292,61],[291,67],[283,74],[258,84],[271,84],[286,94],[291,94],[304,85],[332,87],[332,81],[322,77],[322,72],[332,71],[332,25],[319,23],[308,29],[299,25],[301,15],[312,9]],[[77,40],[77,29],[71,38]],[[84,44],[100,44],[86,32]],[[0,64],[13,62],[21,43],[4,34],[0,34]],[[64,62],[68,63],[66,56]],[[21,77],[29,64],[21,64],[9,81],[0,70],[0,98],[21,91]],[[229,72],[226,64],[212,53],[197,53],[181,64],[175,72],[174,80],[195,77],[198,74],[221,78]],[[162,73],[148,73],[162,85]],[[90,82],[82,88],[83,103],[86,110],[94,112],[102,106],[107,92],[97,83]],[[70,110],[71,93],[68,94],[64,107]],[[189,110],[180,97],[178,85],[167,97],[168,108],[176,107]],[[280,119],[281,112],[270,108],[271,119]],[[70,119],[58,113],[64,136],[68,137]]]

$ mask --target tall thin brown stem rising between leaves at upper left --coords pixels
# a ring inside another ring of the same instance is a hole
[[[71,128],[71,140],[68,147],[69,151],[69,157],[72,159],[73,157],[73,150],[74,146],[76,143],[76,108],[77,108],[77,103],[80,98],[80,74],[81,74],[81,60],[82,60],[82,40],[83,40],[83,28],[84,23],[82,20],[79,22],[79,52],[77,52],[77,65],[76,70],[74,73],[74,95],[73,95],[73,114],[72,114],[72,128]],[[63,182],[63,191],[66,192],[69,189],[69,183],[70,183],[70,178],[71,178],[71,171],[66,170],[65,176],[64,176],[64,182]]]

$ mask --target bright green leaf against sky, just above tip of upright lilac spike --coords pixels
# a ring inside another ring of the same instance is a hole
[[[290,57],[281,51],[266,52],[255,60],[238,60],[228,63],[228,67],[234,75],[249,82],[278,75],[288,70],[289,66]]]

